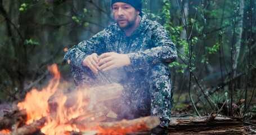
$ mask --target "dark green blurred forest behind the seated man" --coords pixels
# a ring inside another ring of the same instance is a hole
[[[114,23],[110,3],[0,0],[0,104],[45,87],[51,64],[61,72],[60,86],[73,88],[71,66],[62,61],[65,50]],[[177,61],[169,65],[174,116],[211,115],[218,105],[244,100],[239,115],[255,119],[255,5],[252,0],[143,0],[143,11],[164,25],[178,49]]]

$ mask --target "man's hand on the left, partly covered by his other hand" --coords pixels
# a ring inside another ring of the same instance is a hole
[[[91,69],[94,73],[98,74],[98,55],[97,53],[92,53],[92,55],[86,56],[84,58],[82,65],[87,66],[89,69]]]

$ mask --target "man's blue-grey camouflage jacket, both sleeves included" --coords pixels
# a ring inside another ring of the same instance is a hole
[[[83,59],[92,53],[125,53],[128,54],[131,65],[124,68],[130,72],[150,64],[163,62],[168,65],[175,61],[176,47],[167,31],[158,22],[147,19],[145,13],[142,14],[140,24],[130,37],[116,23],[109,25],[91,39],[84,40],[66,51],[64,60],[70,60],[70,65],[74,68],[83,69]]]

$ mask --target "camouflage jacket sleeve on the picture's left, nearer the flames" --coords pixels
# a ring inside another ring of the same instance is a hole
[[[97,53],[100,55],[105,50],[106,29],[94,35],[91,39],[84,40],[78,45],[73,46],[65,52],[64,61],[70,61],[70,65],[77,68],[83,68],[82,61],[88,55]]]

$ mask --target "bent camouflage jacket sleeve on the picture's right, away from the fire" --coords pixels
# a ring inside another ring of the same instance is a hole
[[[177,50],[167,31],[160,24],[151,29],[151,39],[155,46],[145,51],[128,53],[131,68],[164,62],[169,64],[177,59]]]

